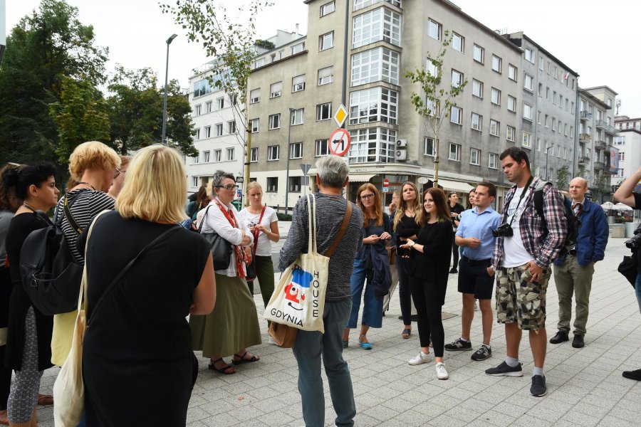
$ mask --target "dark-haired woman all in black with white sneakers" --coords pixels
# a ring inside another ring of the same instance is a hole
[[[402,248],[408,248],[412,299],[418,314],[421,351],[410,359],[411,365],[428,362],[429,339],[434,344],[434,361],[438,379],[448,379],[443,364],[445,335],[441,319],[442,306],[447,290],[449,248],[452,242],[452,221],[443,190],[427,189],[423,194],[423,209],[417,214],[416,222],[421,227],[416,240],[409,240]]]

